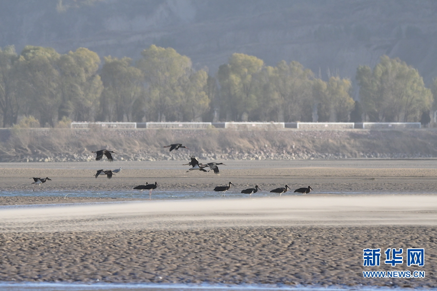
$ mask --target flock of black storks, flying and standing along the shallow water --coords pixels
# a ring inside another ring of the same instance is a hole
[[[182,144],[171,144],[169,146],[164,146],[164,147],[169,147],[169,151],[170,152],[172,150],[178,150],[179,148],[189,149],[186,146],[182,146]],[[103,156],[105,156],[106,159],[108,160],[108,162],[114,162],[114,158],[112,157],[111,154],[117,154],[116,152],[110,151],[110,150],[107,150],[107,149],[101,149],[101,150],[98,150],[98,151],[92,151],[92,153],[96,153],[96,161],[101,161]],[[220,175],[219,174],[220,171],[218,169],[218,165],[225,165],[222,162],[209,162],[209,163],[203,164],[203,163],[200,163],[196,159],[196,157],[194,155],[190,155],[190,159],[191,159],[190,162],[188,162],[186,164],[183,164],[183,165],[191,166],[191,168],[188,169],[188,171],[186,171],[186,172],[190,172],[190,171],[193,171],[193,170],[199,170],[199,171],[202,171],[202,172],[209,172],[209,171],[212,170],[214,172],[214,174]],[[205,168],[209,168],[209,170],[206,170]],[[112,178],[112,176],[115,176],[115,174],[119,173],[120,171],[121,171],[121,167],[118,168],[118,169],[115,169],[115,170],[104,170],[104,169],[101,169],[101,170],[97,170],[97,173],[94,175],[94,177],[97,178],[100,175],[106,175],[106,178],[110,179],[110,178]],[[37,185],[39,185],[40,190],[43,190],[42,187],[41,187],[41,184],[45,183],[48,180],[51,181],[51,179],[48,178],[48,177],[47,178],[33,178],[33,179],[34,179],[34,182],[32,183],[32,184],[34,184],[33,191],[35,191],[35,187]],[[135,190],[140,190],[141,193],[143,193],[144,190],[149,190],[149,200],[151,200],[151,192],[152,192],[153,189],[156,189],[158,186],[159,185],[158,185],[157,182],[155,182],[153,184],[149,184],[148,182],[146,182],[145,185],[135,186],[134,189]],[[226,186],[217,186],[217,187],[215,187],[214,191],[221,192],[221,197],[226,198],[226,191],[231,189],[231,186],[235,186],[235,185],[232,182],[229,182],[228,185],[226,185]],[[288,185],[285,185],[285,187],[276,188],[276,189],[271,190],[270,192],[271,193],[279,193],[279,196],[281,196],[282,194],[286,193],[289,190],[291,190],[291,189],[288,187]],[[296,189],[296,190],[294,190],[294,193],[308,194],[308,193],[310,193],[311,190],[313,190],[313,188],[311,188],[311,186],[308,186],[306,188],[303,187],[303,188]],[[241,193],[243,193],[243,194],[250,194],[250,197],[252,197],[252,194],[254,194],[254,193],[258,192],[258,191],[262,191],[262,190],[258,187],[258,185],[255,185],[254,188],[244,189],[244,190],[241,191]],[[66,197],[67,197],[67,195],[66,195]],[[66,198],[66,197],[64,197],[64,198]]]

